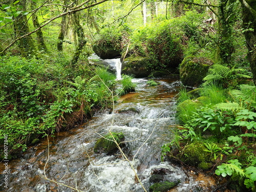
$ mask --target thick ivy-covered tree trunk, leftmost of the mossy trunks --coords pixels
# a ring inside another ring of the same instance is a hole
[[[18,4],[23,6],[22,11],[26,10],[26,0],[20,0]],[[30,32],[26,15],[20,14],[16,17],[14,20],[14,31],[17,38]],[[36,53],[35,44],[31,35],[18,40],[18,47],[23,57],[31,58]]]

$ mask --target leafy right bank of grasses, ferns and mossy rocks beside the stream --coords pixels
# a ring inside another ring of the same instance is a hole
[[[162,146],[162,158],[226,177],[236,191],[256,191],[253,83],[231,88],[213,81],[193,91],[183,88],[177,119],[181,126],[173,141]]]

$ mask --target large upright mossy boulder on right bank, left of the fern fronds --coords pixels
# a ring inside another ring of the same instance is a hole
[[[180,65],[180,79],[184,86],[198,87],[214,63],[205,57],[185,57]]]

